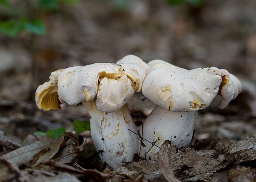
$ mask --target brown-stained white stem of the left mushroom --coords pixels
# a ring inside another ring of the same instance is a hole
[[[83,101],[90,117],[92,141],[100,158],[109,166],[116,168],[122,162],[132,161],[138,153],[137,126],[128,110],[127,104],[112,113],[99,111],[95,100]]]

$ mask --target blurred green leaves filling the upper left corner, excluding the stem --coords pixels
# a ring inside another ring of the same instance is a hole
[[[45,25],[37,17],[39,12],[56,11],[61,3],[73,5],[76,2],[77,0],[26,0],[21,1],[21,5],[12,7],[8,0],[0,0],[0,8],[9,12],[7,20],[0,20],[0,32],[9,37],[15,37],[24,31],[35,35],[45,35]],[[20,9],[20,7],[25,8]]]

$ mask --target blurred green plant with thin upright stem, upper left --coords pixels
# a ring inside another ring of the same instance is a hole
[[[11,38],[17,37],[22,32],[28,32],[26,39],[30,43],[29,51],[32,64],[29,71],[30,85],[24,99],[33,98],[38,74],[38,62],[36,58],[36,36],[46,34],[45,23],[41,15],[50,16],[51,13],[61,12],[61,5],[75,5],[78,0],[0,0],[0,33]]]

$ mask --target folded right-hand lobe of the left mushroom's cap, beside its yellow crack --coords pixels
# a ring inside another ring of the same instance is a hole
[[[116,62],[125,75],[115,79],[100,79],[96,106],[100,111],[111,113],[119,110],[135,92],[140,92],[149,66],[135,55],[127,55]]]

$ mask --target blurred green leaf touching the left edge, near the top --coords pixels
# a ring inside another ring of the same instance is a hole
[[[0,22],[0,32],[10,37],[15,37],[25,30],[25,20],[21,18]]]

